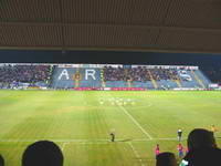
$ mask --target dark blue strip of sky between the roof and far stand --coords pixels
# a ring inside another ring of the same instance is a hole
[[[0,51],[0,62],[7,63],[115,63],[221,66],[221,54],[152,53],[113,51]]]

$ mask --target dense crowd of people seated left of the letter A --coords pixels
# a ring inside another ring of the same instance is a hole
[[[0,83],[36,83],[48,82],[52,72],[51,65],[12,65],[0,66]]]

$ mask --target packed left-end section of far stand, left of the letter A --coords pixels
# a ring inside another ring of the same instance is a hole
[[[49,86],[52,70],[52,65],[1,64],[0,86],[1,89],[21,85]]]

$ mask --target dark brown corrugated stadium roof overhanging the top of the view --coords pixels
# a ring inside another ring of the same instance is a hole
[[[0,49],[221,53],[221,1],[1,0]]]

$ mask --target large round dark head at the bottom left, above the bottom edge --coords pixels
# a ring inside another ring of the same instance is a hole
[[[63,166],[63,155],[53,142],[40,141],[27,147],[22,166]]]

